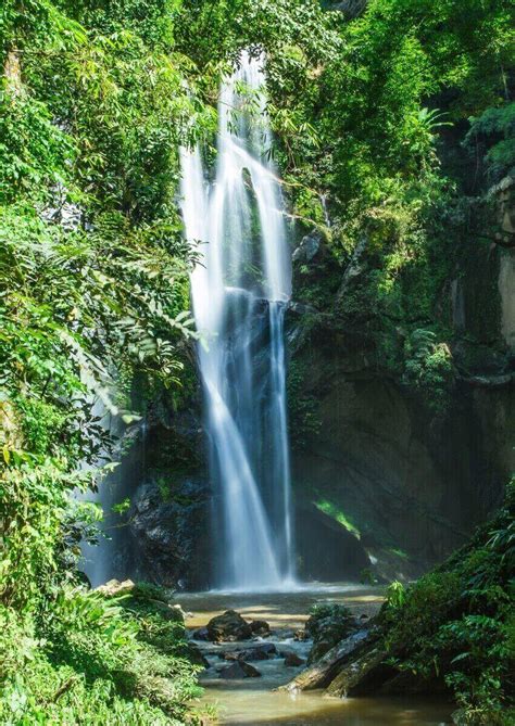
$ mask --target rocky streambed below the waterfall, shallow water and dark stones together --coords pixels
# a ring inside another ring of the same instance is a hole
[[[352,586],[306,588],[288,594],[181,595],[183,608],[190,611],[187,619],[190,638],[204,659],[203,700],[217,712],[218,721],[214,723],[247,726],[451,723],[452,706],[444,701],[415,696],[346,698],[347,686],[340,683],[343,676],[335,683],[336,673],[343,673],[339,666],[346,648],[363,648],[373,637],[370,623],[381,601],[379,588]],[[347,620],[341,617],[342,606],[348,608]],[[318,617],[310,617],[313,607]],[[340,652],[336,652],[338,648]],[[366,650],[367,654],[369,651]],[[338,667],[334,667],[335,662]]]

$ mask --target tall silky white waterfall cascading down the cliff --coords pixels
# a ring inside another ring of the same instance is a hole
[[[294,582],[284,345],[291,259],[266,154],[262,66],[243,52],[222,87],[214,182],[198,149],[181,153],[186,234],[205,242],[191,288],[206,341],[199,361],[216,487],[214,583],[249,591]],[[258,114],[247,112],[249,99]]]

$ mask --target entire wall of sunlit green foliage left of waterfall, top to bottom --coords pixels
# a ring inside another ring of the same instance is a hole
[[[193,335],[178,145],[210,112],[171,54],[173,9],[0,9],[2,724],[194,721],[184,626],[77,571],[110,419],[138,420],[136,379],[179,398]]]

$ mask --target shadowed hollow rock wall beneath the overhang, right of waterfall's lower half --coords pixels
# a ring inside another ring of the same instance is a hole
[[[309,371],[299,397],[313,402],[319,421],[292,451],[301,573],[321,566],[318,577],[330,581],[360,579],[360,569],[385,579],[417,576],[499,506],[515,464],[515,381],[468,375],[436,418],[373,369],[360,336],[322,321],[309,337],[294,337],[293,362]],[[332,532],[310,515],[313,507],[330,518]],[[306,519],[335,538],[331,547],[307,534]],[[368,564],[359,564],[360,552]]]

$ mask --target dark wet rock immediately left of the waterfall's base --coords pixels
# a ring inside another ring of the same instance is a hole
[[[129,522],[140,579],[167,587],[209,585],[206,501],[202,481],[187,480],[172,491],[158,482],[137,488]]]

